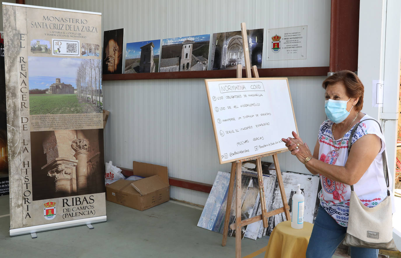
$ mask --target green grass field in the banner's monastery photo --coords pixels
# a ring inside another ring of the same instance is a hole
[[[91,103],[79,101],[77,94],[32,94],[29,100],[31,115],[97,112]]]

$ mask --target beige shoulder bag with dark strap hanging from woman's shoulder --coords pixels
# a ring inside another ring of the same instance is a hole
[[[374,120],[375,119],[366,119]],[[365,122],[363,120],[361,122]],[[359,122],[352,129],[348,140],[348,154],[351,149],[352,136]],[[376,121],[377,122],[377,121]],[[379,122],[377,122],[379,124]],[[380,130],[381,126],[379,124]],[[346,246],[375,248],[398,251],[393,240],[393,221],[391,212],[391,197],[389,191],[389,172],[387,171],[387,157],[382,153],[383,172],[387,184],[387,197],[377,206],[368,208],[362,204],[351,186],[350,208],[348,216],[348,228],[344,241]]]

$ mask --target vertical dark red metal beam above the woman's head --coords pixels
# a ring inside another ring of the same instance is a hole
[[[331,0],[330,72],[358,70],[359,0]]]

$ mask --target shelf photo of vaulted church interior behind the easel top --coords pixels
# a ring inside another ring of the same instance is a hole
[[[247,30],[251,66],[262,68],[263,29]],[[245,67],[241,31],[215,33],[212,37],[209,70]]]

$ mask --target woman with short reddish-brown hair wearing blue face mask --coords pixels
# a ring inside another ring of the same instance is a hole
[[[364,87],[356,74],[337,72],[322,86],[328,120],[320,126],[313,154],[295,132],[294,138],[282,140],[312,174],[320,175],[320,205],[306,257],[330,258],[347,230],[350,185],[367,207],[376,206],[387,196],[381,156],[385,141],[373,120],[360,123],[349,139],[355,124],[371,118],[361,112]],[[348,140],[352,140],[349,156]],[[378,253],[378,249],[351,247],[352,258],[377,258]]]

